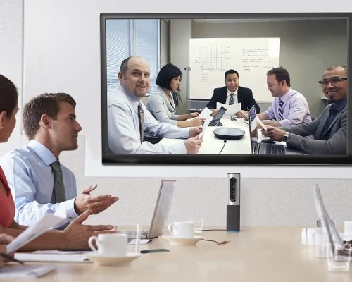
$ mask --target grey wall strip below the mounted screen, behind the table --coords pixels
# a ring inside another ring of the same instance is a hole
[[[161,178],[111,178],[84,176],[84,137],[79,148],[63,152],[61,161],[73,170],[78,190],[97,183],[94,195],[102,192],[118,195],[120,200],[89,223],[142,223],[148,225],[158,195]],[[170,169],[173,169],[170,167]],[[313,226],[316,213],[313,185],[318,183],[329,214],[343,225],[352,220],[352,180],[296,178],[241,178],[241,225]],[[208,226],[226,224],[226,173],[223,178],[172,178],[177,180],[169,221],[184,221],[189,216],[203,217]],[[138,173],[138,171],[136,171]],[[272,175],[275,175],[275,170]]]

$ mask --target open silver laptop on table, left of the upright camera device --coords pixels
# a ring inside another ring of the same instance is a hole
[[[176,180],[161,180],[149,231],[142,231],[141,239],[153,239],[163,235],[167,224]],[[127,234],[129,240],[136,238],[135,231]]]

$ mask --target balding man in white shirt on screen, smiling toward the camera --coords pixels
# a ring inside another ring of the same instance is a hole
[[[108,93],[108,148],[115,154],[197,154],[201,147],[202,127],[179,128],[161,123],[141,101],[150,85],[150,68],[146,61],[131,56],[121,63],[118,90]],[[142,108],[142,109],[140,109]],[[153,137],[182,138],[175,144],[143,142],[144,133]]]

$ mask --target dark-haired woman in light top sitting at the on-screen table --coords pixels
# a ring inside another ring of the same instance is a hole
[[[164,123],[171,123],[180,128],[199,126],[204,121],[203,118],[199,118],[199,113],[175,114],[181,102],[178,93],[181,78],[180,68],[172,63],[163,66],[156,77],[156,85],[158,86],[149,97],[146,109],[151,112],[154,118]]]

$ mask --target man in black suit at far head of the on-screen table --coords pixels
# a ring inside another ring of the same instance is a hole
[[[239,86],[239,73],[237,71],[226,71],[225,85],[224,87],[214,89],[213,97],[211,97],[206,105],[207,108],[216,109],[216,102],[230,105],[241,103],[242,110],[247,111],[254,105],[256,106],[256,113],[260,113],[260,108],[253,98],[252,90]],[[215,111],[213,111],[213,115]]]

